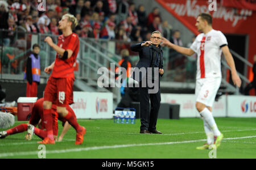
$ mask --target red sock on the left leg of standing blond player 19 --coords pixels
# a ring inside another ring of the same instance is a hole
[[[52,121],[53,120],[52,120],[51,109],[44,109],[44,125],[46,127],[47,137],[53,141],[54,138],[53,138],[53,130],[52,130]]]

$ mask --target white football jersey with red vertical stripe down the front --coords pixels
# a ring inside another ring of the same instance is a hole
[[[221,47],[225,45],[228,41],[224,34],[214,29],[196,37],[190,47],[197,54],[196,79],[221,77]]]

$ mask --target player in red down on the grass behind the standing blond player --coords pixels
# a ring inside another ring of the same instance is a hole
[[[26,131],[26,130],[29,131],[30,127],[34,127],[36,125],[38,125],[38,127],[40,129],[35,128],[35,131],[32,130],[32,132],[35,133],[36,135],[38,135],[38,137],[40,137],[40,138],[46,138],[47,132],[45,130],[41,130],[41,129],[45,129],[44,128],[45,126],[43,123],[44,122],[44,120],[43,120],[43,101],[44,101],[43,98],[36,101],[34,107],[32,108],[32,113],[31,113],[30,121],[28,124],[20,124],[14,128],[9,129],[9,130],[1,131],[0,138],[5,138],[5,137],[7,137],[7,135],[22,133],[23,131]],[[69,106],[67,107],[67,109],[72,111],[72,109]],[[73,115],[75,116],[75,113],[73,113]],[[59,119],[61,122],[63,122],[64,129],[59,137],[59,141],[62,141],[65,133],[67,133],[68,129],[71,126],[68,124],[67,120],[58,117],[55,104],[52,105],[52,118],[54,120],[53,121],[53,135],[54,135],[55,140],[57,140],[57,134],[58,134],[57,120]],[[32,133],[28,133],[25,138],[26,138],[26,140],[30,141],[32,138]]]

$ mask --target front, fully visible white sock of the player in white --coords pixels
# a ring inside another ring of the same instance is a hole
[[[213,130],[214,136],[218,137],[221,133],[220,130],[218,130],[216,122],[214,121],[212,113],[209,111],[209,109],[204,108],[204,110],[201,111],[200,114],[204,118],[205,122],[210,126],[210,129]]]

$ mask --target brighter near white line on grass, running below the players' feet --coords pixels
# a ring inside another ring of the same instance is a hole
[[[238,138],[224,138],[224,140],[246,139],[246,138],[256,138],[256,136],[238,137]],[[199,139],[199,140],[194,140],[194,141],[180,141],[180,142],[139,143],[139,144],[130,144],[130,145],[113,145],[113,146],[94,146],[94,147],[84,147],[84,148],[72,148],[72,149],[68,149],[68,150],[47,151],[46,154],[61,154],[61,153],[68,153],[68,152],[81,152],[81,151],[90,151],[90,150],[101,150],[101,149],[123,148],[123,147],[136,147],[136,146],[173,145],[173,144],[193,143],[193,142],[201,142],[201,141],[205,141],[205,139]],[[0,158],[7,157],[7,156],[24,156],[24,155],[37,155],[37,154],[38,154],[38,151],[11,152],[11,153],[2,153],[2,154],[0,154]]]

